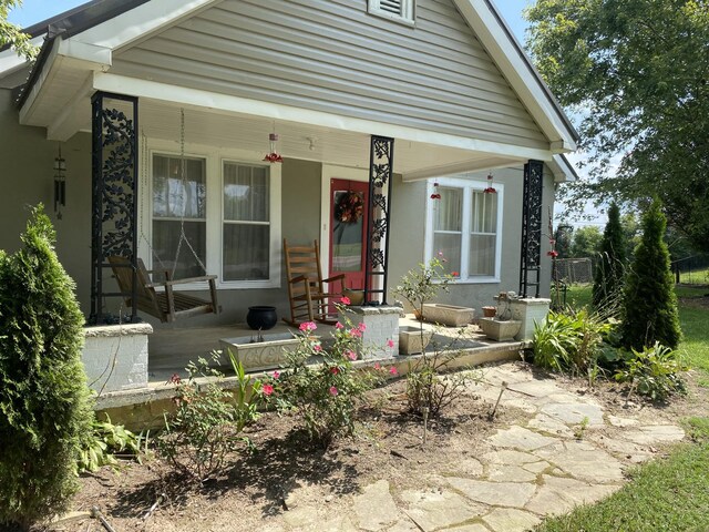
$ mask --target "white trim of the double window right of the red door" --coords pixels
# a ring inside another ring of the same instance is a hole
[[[470,208],[471,208],[471,192],[472,191],[484,191],[487,187],[486,181],[471,181],[464,178],[456,177],[439,177],[434,180],[429,180],[427,182],[427,197],[430,197],[434,192],[433,183],[438,183],[440,186],[450,186],[455,188],[463,188],[463,226],[462,226],[462,241],[470,242],[470,238],[463,238],[466,235],[470,236]],[[461,278],[454,279],[452,283],[460,285],[482,285],[482,284],[493,284],[500,283],[500,273],[502,269],[502,229],[503,229],[503,211],[504,211],[504,191],[505,187],[501,183],[494,184],[496,194],[497,194],[497,227],[496,227],[496,238],[495,238],[495,274],[492,276],[471,276],[471,277],[462,277],[463,274],[467,274],[470,253],[461,253]],[[427,264],[434,258],[434,249],[433,249],[433,213],[435,208],[434,204],[435,200],[427,201],[427,218],[425,218],[425,262]],[[463,248],[465,252],[465,247]]]

